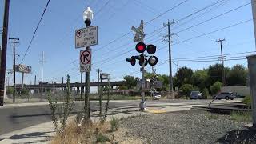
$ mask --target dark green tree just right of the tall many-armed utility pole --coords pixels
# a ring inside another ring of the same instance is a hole
[[[192,75],[193,75],[192,69],[187,68],[186,66],[179,68],[177,73],[175,74],[175,77],[176,77],[175,85],[177,85],[178,87],[181,87],[186,83],[192,83],[191,81]]]

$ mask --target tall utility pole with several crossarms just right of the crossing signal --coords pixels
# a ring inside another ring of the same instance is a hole
[[[172,75],[172,66],[171,66],[171,49],[170,49],[170,43],[172,42],[172,41],[170,41],[170,37],[172,36],[172,35],[174,35],[174,33],[170,33],[170,25],[172,25],[172,24],[174,24],[174,20],[173,20],[173,22],[169,22],[169,19],[168,19],[168,22],[167,22],[167,24],[164,24],[163,26],[168,26],[168,35],[167,35],[167,37],[168,37],[168,46],[169,46],[169,90],[170,90],[170,94],[172,94],[173,93],[173,75]]]

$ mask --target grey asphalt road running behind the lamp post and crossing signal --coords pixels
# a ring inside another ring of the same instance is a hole
[[[208,104],[210,100],[160,100],[160,101],[148,101],[148,106],[160,105],[160,104]],[[117,107],[138,107],[139,101],[118,101],[110,102],[110,108]],[[82,110],[83,103],[75,103],[72,114]],[[90,110],[98,110],[98,102],[90,102]],[[0,135],[6,134],[10,131],[20,130],[28,126],[34,126],[42,122],[50,122],[51,114],[48,105],[40,106],[10,106],[6,108],[0,107]]]

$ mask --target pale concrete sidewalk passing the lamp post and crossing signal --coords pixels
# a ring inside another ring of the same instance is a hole
[[[230,102],[230,101],[229,101]],[[232,101],[239,102],[239,101]],[[215,102],[214,102],[215,103]],[[226,101],[218,102],[218,103],[226,103]],[[112,116],[117,118],[127,118],[130,116],[138,116],[144,114],[160,114],[167,113],[173,111],[181,111],[181,110],[190,110],[193,106],[206,106],[206,104],[187,104],[183,103],[150,103],[148,105],[148,110],[144,112],[138,111],[138,106],[126,106],[126,107],[118,107],[109,110],[109,115],[107,120],[109,120]],[[98,120],[98,113],[91,113],[91,120]],[[74,116],[73,116],[74,117]],[[30,126],[22,130],[15,130],[8,134],[0,135],[0,144],[9,144],[9,143],[49,143],[50,138],[54,135],[54,127],[52,122],[45,122],[36,126]]]

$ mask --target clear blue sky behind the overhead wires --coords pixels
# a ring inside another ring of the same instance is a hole
[[[183,3],[180,4],[181,2]],[[216,42],[219,38],[226,39],[222,42],[223,54],[227,54],[225,66],[242,64],[247,67],[246,55],[253,53],[245,52],[255,51],[251,5],[246,5],[249,2],[250,0],[51,0],[22,62],[32,66],[32,74],[27,74],[27,83],[34,83],[34,75],[41,78],[39,59],[42,51],[46,57],[43,66],[44,82],[62,82],[62,77],[66,80],[66,74],[70,74],[71,82],[80,82],[78,59],[80,50],[84,48],[75,49],[74,31],[85,27],[82,14],[87,6],[94,11],[91,26],[98,26],[98,45],[90,46],[90,82],[97,80],[98,68],[109,73],[111,81],[122,80],[126,74],[141,76],[138,62],[135,66],[126,62],[126,58],[138,54],[131,26],[138,27],[141,20],[145,22],[144,42],[157,46],[154,55],[158,57],[158,64],[154,68],[158,74],[169,74],[168,43],[164,41],[168,30],[163,26],[168,19],[170,22],[174,19],[175,22],[170,26],[171,33],[174,33],[171,38],[173,74],[182,66],[199,70],[221,63],[220,43]],[[8,35],[9,38],[20,39],[16,47],[16,54],[20,55],[17,56],[17,64],[22,61],[46,3],[47,0],[10,1]],[[4,0],[1,0],[0,27],[3,6]],[[209,7],[203,9],[206,6]],[[239,6],[242,7],[238,8]],[[222,15],[219,16],[220,14]],[[124,34],[126,36],[122,37]],[[12,44],[9,43],[7,69],[11,69],[13,65],[12,53]],[[194,62],[198,60],[200,62]],[[146,70],[151,72],[151,66],[146,66]],[[17,83],[21,83],[21,76],[22,74],[17,74]]]

